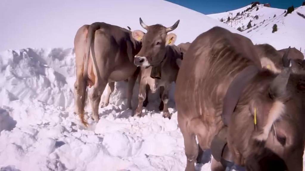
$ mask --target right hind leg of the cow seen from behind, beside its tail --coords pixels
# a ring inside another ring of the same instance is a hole
[[[96,82],[96,84],[92,87],[89,92],[89,100],[92,109],[92,117],[98,122],[99,121],[99,102],[101,101],[102,93],[107,85],[107,81],[101,81],[100,83]]]

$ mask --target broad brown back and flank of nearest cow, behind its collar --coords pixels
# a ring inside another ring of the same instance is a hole
[[[199,35],[185,58],[175,91],[179,117],[220,114],[222,99],[233,78],[249,65],[261,67],[252,42],[221,27]]]

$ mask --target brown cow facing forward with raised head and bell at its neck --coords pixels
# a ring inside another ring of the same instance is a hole
[[[159,109],[161,110],[163,108],[163,117],[170,118],[167,106],[169,88],[170,84],[176,81],[179,70],[177,60],[181,60],[181,54],[174,45],[176,35],[167,33],[177,28],[179,20],[169,28],[160,24],[146,26],[141,18],[140,24],[147,30],[147,33],[140,30],[132,32],[135,40],[142,41],[142,49],[135,56],[134,61],[135,65],[141,66],[141,74],[139,77],[139,102],[135,115],[142,115],[143,101],[145,99],[145,103],[147,103],[146,98],[148,89],[154,93],[160,87],[162,102]],[[160,78],[156,79],[156,75],[152,74],[158,70],[158,68],[160,73],[157,73],[157,75],[160,74]]]

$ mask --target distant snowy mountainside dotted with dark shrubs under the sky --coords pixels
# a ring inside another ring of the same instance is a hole
[[[296,8],[287,16],[285,16],[284,13],[285,9],[265,7],[262,4],[245,11],[250,7],[251,5],[248,5],[241,9],[218,14],[210,14],[208,16],[217,19],[218,21],[223,19],[225,24],[228,26],[232,25],[232,27],[235,29],[240,27],[242,33],[245,33],[245,35],[255,44],[268,43],[278,50],[291,46],[296,47],[296,49],[301,48],[302,53],[304,53],[305,18],[299,14],[305,15],[305,6]],[[238,12],[240,15],[236,16]],[[228,17],[230,17],[230,21],[227,20]],[[247,25],[250,20],[252,21],[252,27],[247,29]],[[278,31],[272,33],[272,27],[274,24],[277,25]]]

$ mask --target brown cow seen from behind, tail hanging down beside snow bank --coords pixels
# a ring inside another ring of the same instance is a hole
[[[131,108],[132,89],[137,78],[137,67],[133,64],[133,60],[141,49],[141,43],[132,38],[131,31],[107,23],[84,25],[77,30],[74,48],[75,113],[79,115],[82,123],[87,126],[84,120],[84,106],[88,85],[92,86],[89,101],[95,121],[99,120],[99,103],[107,83],[110,88],[108,91],[110,93],[107,94],[109,103],[114,82],[128,78],[127,105]]]

